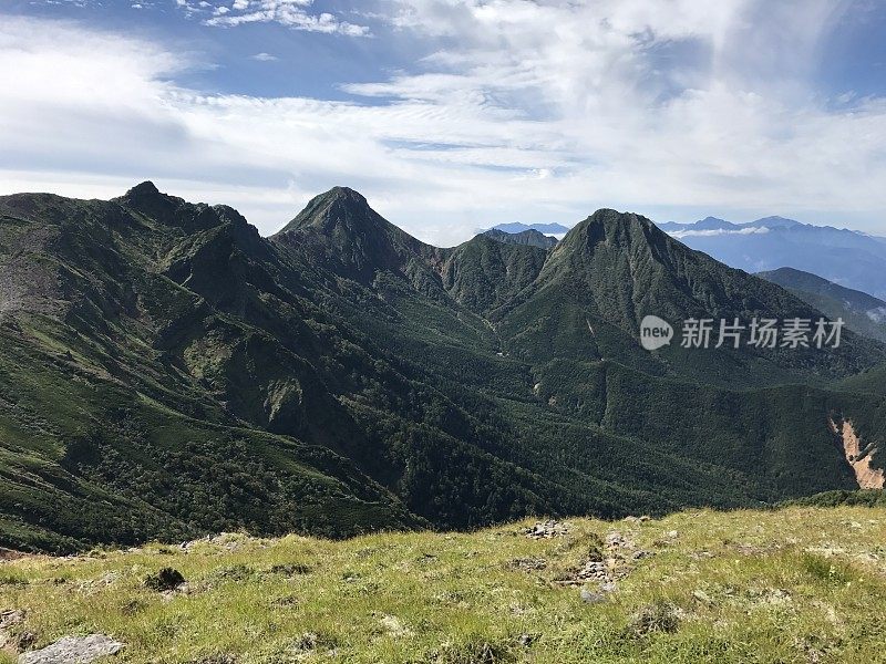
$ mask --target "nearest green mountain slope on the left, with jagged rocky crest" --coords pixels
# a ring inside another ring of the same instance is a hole
[[[239,216],[145,187],[114,203],[8,197],[0,209],[0,543],[421,523],[333,442],[246,426],[309,432],[334,413],[316,371],[225,312],[257,305],[234,276],[249,260],[235,245],[268,249]],[[237,390],[247,378],[250,394]],[[282,418],[298,424],[275,427]]]

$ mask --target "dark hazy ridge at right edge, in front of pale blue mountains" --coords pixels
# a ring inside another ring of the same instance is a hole
[[[849,330],[886,342],[886,302],[883,300],[793,268],[760,272],[758,277],[786,288],[832,319],[842,318]]]

